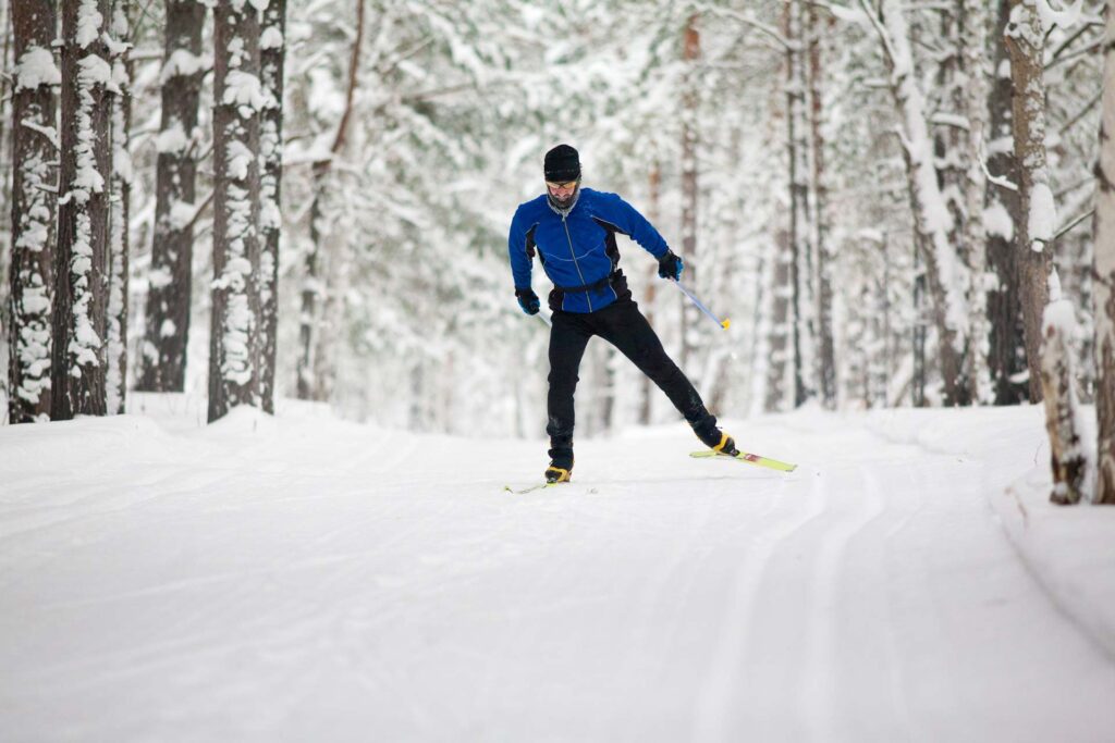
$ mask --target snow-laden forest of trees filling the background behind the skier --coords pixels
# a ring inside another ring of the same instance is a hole
[[[9,423],[192,392],[540,436],[506,231],[568,141],[730,317],[626,244],[714,411],[1045,400],[1056,497],[1115,502],[1102,0],[6,4]],[[676,420],[605,344],[580,390],[588,436]]]

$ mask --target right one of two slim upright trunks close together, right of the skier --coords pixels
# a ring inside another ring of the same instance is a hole
[[[836,351],[833,343],[833,245],[828,239],[828,184],[825,172],[825,113],[824,67],[821,41],[827,36],[822,26],[821,11],[809,4],[806,16],[805,38],[808,49],[809,106],[809,150],[812,153],[812,178],[809,193],[813,197],[813,250],[817,261],[817,382],[821,401],[828,410],[836,409]],[[832,26],[830,17],[828,23]]]

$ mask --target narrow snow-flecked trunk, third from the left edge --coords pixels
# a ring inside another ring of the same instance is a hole
[[[114,0],[112,33],[118,45],[130,43],[127,0]],[[128,218],[132,198],[132,65],[127,46],[114,50],[112,100],[112,202],[108,214],[108,412],[123,414],[128,383]]]

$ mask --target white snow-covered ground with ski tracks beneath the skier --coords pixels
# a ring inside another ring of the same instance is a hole
[[[4,741],[1112,741],[1115,509],[1040,411],[578,447],[288,404],[0,429]]]

